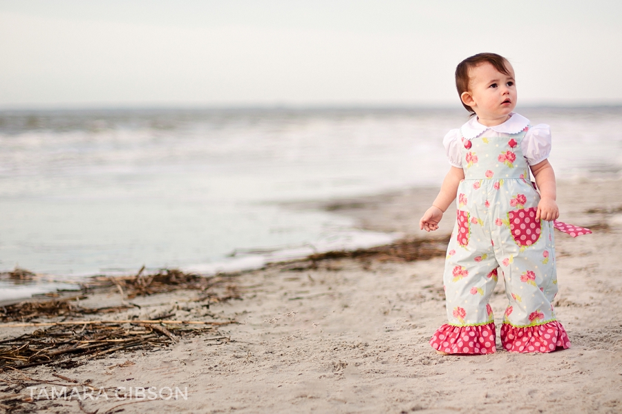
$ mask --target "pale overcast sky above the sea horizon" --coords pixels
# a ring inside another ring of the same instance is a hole
[[[482,51],[519,104],[622,104],[621,4],[0,0],[0,108],[459,107]]]

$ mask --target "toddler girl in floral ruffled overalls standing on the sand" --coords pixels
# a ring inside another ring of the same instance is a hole
[[[509,300],[502,347],[511,352],[569,348],[552,305],[558,290],[553,228],[572,236],[590,231],[554,223],[559,211],[555,174],[547,160],[549,126],[531,126],[512,112],[516,81],[511,64],[500,55],[464,59],[455,70],[455,83],[462,104],[476,116],[445,136],[452,167],[420,221],[427,232],[437,229],[458,196],[443,276],[449,323],[438,328],[430,344],[444,355],[495,352],[489,299],[501,275]]]

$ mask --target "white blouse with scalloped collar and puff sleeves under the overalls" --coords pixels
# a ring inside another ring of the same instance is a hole
[[[490,138],[506,138],[511,133],[519,133],[527,125],[529,125],[529,120],[514,112],[510,113],[507,121],[495,126],[482,125],[478,122],[478,117],[471,117],[469,122],[462,125],[460,129],[452,129],[443,139],[449,164],[453,165],[453,167],[462,168],[461,151],[463,144],[460,138],[464,137],[467,140],[472,140],[484,133]],[[520,142],[520,149],[522,149],[522,155],[529,165],[538,164],[538,162],[543,162],[549,158],[551,153],[551,127],[547,124],[531,126],[525,134],[525,138]]]

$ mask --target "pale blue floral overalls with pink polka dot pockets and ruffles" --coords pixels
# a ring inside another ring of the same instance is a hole
[[[436,350],[495,352],[489,299],[498,276],[505,279],[509,300],[501,327],[505,350],[551,352],[570,346],[552,305],[558,291],[554,223],[536,221],[540,195],[521,149],[528,130],[509,138],[462,138],[464,180],[443,276],[449,323],[430,341]]]

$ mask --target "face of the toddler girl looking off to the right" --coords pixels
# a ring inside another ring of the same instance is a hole
[[[473,108],[480,122],[505,122],[516,107],[514,70],[509,63],[506,67],[509,75],[488,62],[469,70],[469,91],[462,93],[462,102]]]

